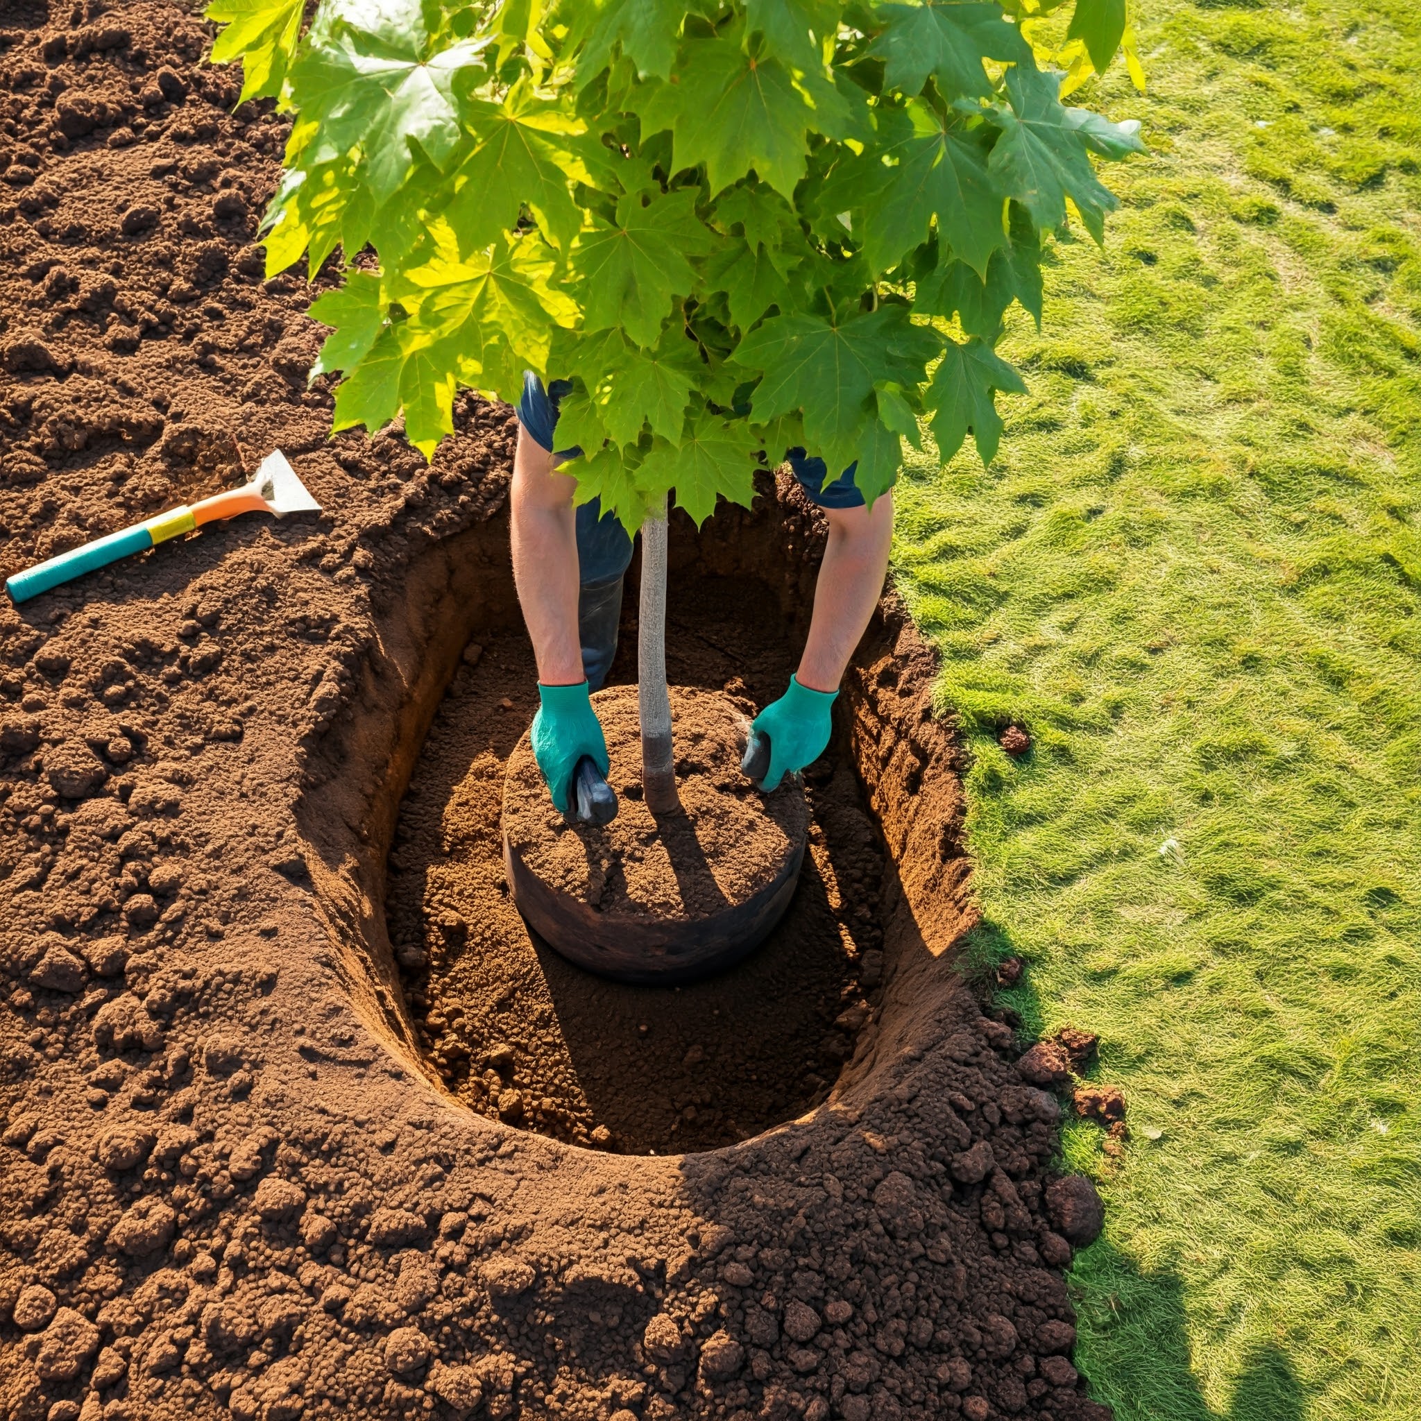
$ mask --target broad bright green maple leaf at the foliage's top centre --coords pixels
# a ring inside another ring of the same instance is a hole
[[[678,172],[706,165],[712,195],[753,171],[790,199],[818,115],[779,60],[746,54],[722,36],[686,44],[672,81],[658,85],[642,109],[647,132],[671,129]],[[826,109],[820,121],[843,117],[843,108]]]

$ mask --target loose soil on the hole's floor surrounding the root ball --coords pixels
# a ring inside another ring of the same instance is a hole
[[[672,594],[671,678],[750,705],[777,696],[797,648],[767,603],[755,583],[686,578]],[[628,617],[617,682],[635,675],[635,641]],[[509,897],[504,776],[536,709],[527,638],[490,639],[449,686],[396,828],[388,925],[450,1090],[486,1115],[635,1154],[713,1148],[826,1098],[882,961],[882,854],[843,736],[806,776],[800,887],[766,942],[702,982],[632,986],[537,944]],[[693,742],[676,736],[685,762]]]

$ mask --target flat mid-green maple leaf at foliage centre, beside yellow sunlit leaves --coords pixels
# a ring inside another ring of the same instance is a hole
[[[657,342],[672,300],[695,287],[688,259],[710,246],[695,206],[693,190],[645,205],[628,195],[617,203],[614,225],[598,220],[578,236],[574,252],[588,331],[621,327],[638,345]]]

